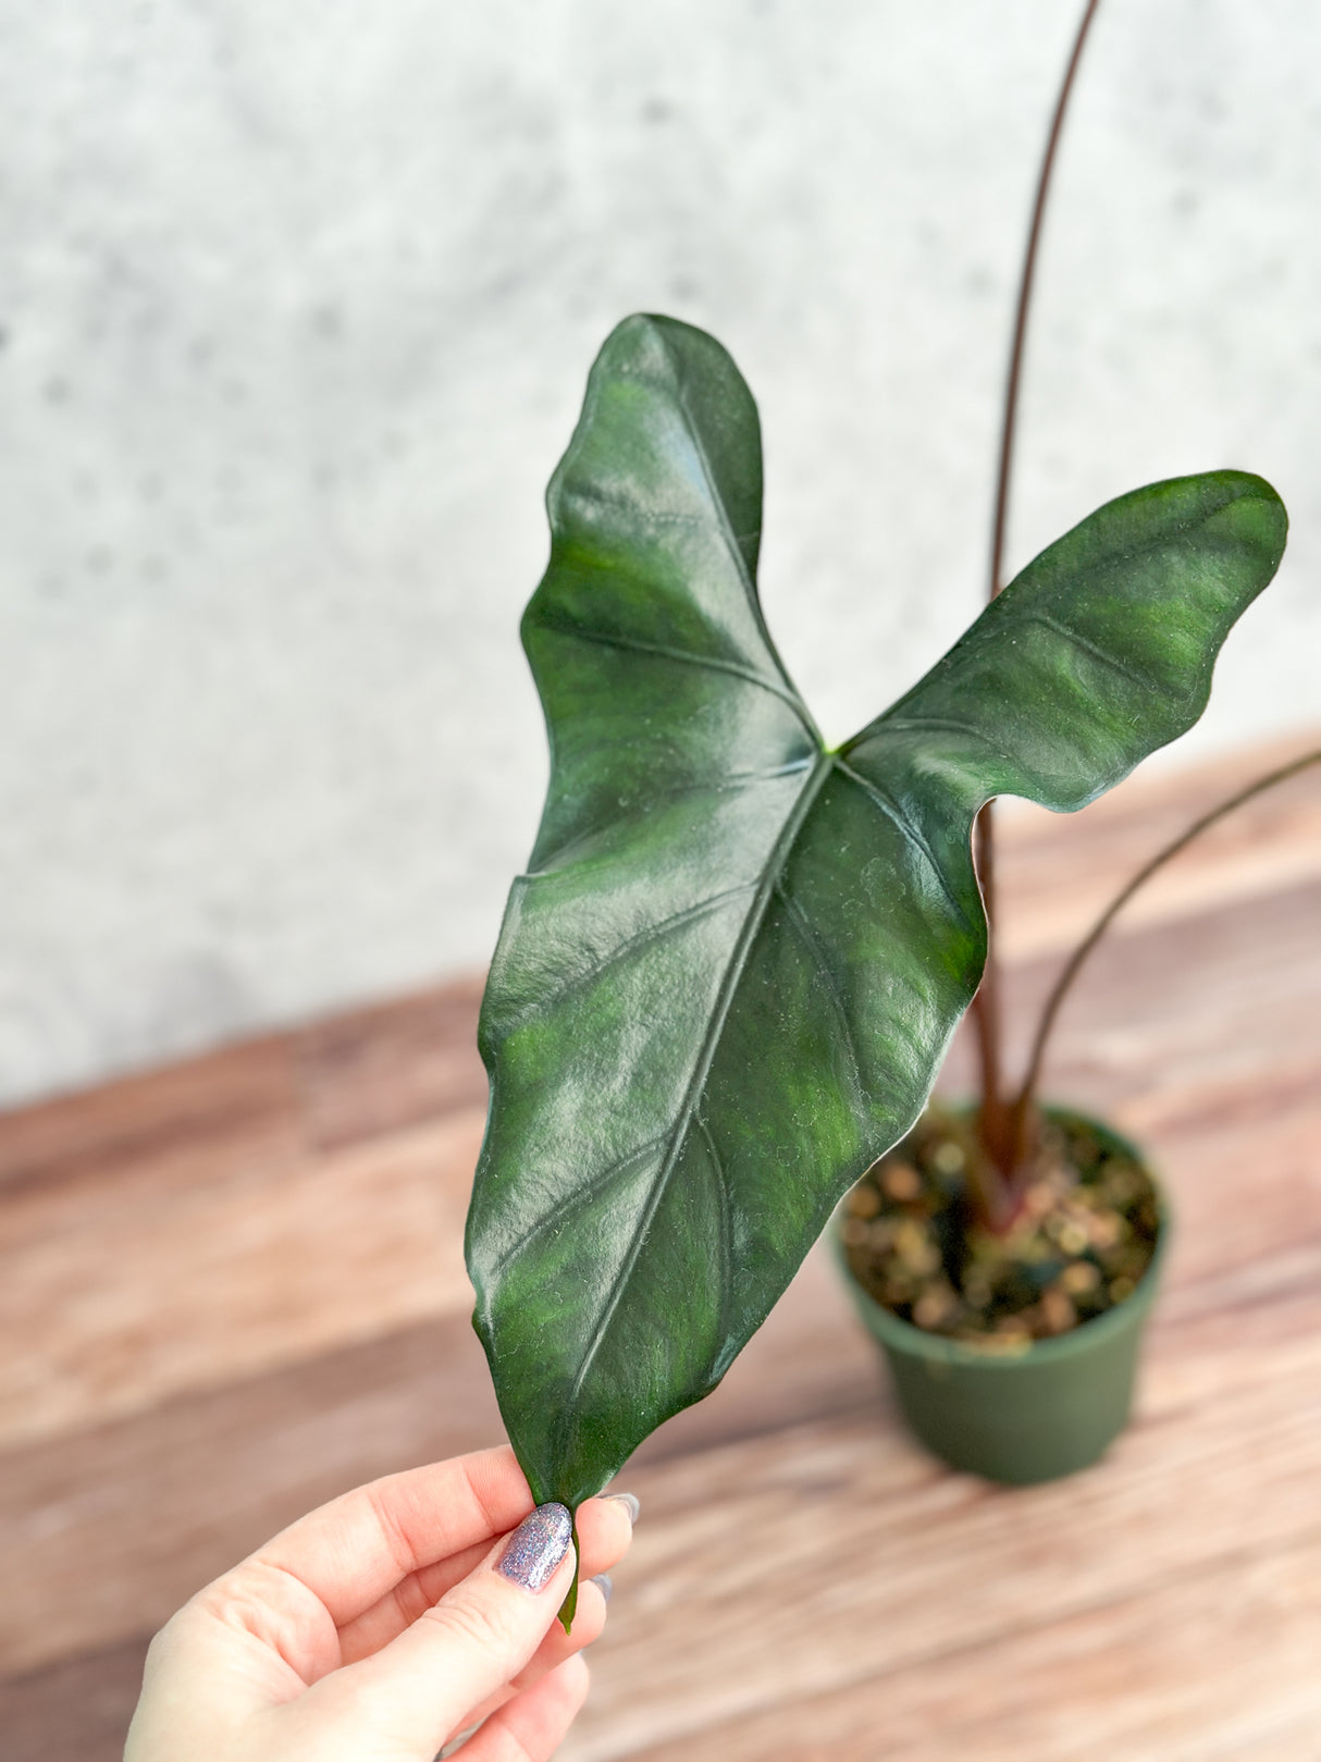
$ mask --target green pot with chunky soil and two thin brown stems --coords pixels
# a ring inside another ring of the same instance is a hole
[[[1000,423],[990,594],[1002,589],[1015,419],[1041,224],[1081,53],[1087,0],[1055,102],[1032,204]],[[837,1247],[849,1293],[893,1374],[900,1406],[937,1455],[993,1480],[1036,1482],[1094,1462],[1127,1422],[1138,1343],[1170,1237],[1143,1152],[1104,1122],[1037,1099],[1050,1031],[1081,964],[1157,869],[1242,802],[1321,754],[1259,777],[1159,851],[1066,960],[1027,1073],[1006,1096],[993,941],[972,1003],[979,1096],[928,1108],[847,1196]],[[995,918],[993,805],[976,867]]]

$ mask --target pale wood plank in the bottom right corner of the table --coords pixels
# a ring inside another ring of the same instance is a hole
[[[893,1614],[886,1614],[888,1632]],[[898,1616],[902,1623],[902,1612]],[[1249,1545],[1133,1596],[1015,1609],[979,1667],[884,1663],[833,1686],[634,1750],[638,1762],[1316,1762],[1321,1538]],[[597,1707],[588,1718],[595,1718]],[[578,1755],[592,1751],[583,1730]],[[574,1751],[562,1751],[572,1755]]]

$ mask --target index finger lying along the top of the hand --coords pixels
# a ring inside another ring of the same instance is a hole
[[[421,1566],[506,1535],[532,1505],[523,1470],[502,1445],[356,1487],[282,1529],[248,1563],[298,1579],[342,1628]]]

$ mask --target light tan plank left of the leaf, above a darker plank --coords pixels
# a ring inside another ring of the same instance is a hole
[[[469,1311],[463,1212],[483,1114],[224,1181],[83,1177],[0,1212],[0,1425],[60,1433],[305,1360],[421,1316]],[[76,1198],[76,1205],[72,1203]],[[107,1279],[107,1270],[113,1277]]]

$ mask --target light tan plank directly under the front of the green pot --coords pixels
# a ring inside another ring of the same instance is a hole
[[[659,1737],[731,1755],[740,1718],[782,1730],[779,1709],[967,1658],[1023,1616],[1036,1632],[1191,1575],[1236,1582],[1258,1558],[1321,1544],[1321,1341],[1295,1369],[1305,1376],[1242,1383],[1178,1424],[1147,1417],[1103,1468],[1039,1489],[939,1471],[867,1418],[639,1471],[648,1524],[616,1575],[620,1609],[565,1758],[646,1753]],[[1309,1693],[1321,1713],[1316,1676]],[[904,1734],[881,1695],[874,1706],[870,1753],[888,1755]]]

